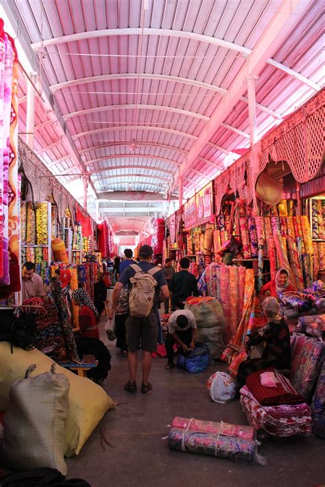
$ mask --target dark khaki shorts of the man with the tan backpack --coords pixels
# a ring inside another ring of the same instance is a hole
[[[158,321],[155,310],[151,310],[147,318],[137,318],[129,314],[125,321],[125,331],[129,351],[156,351]]]

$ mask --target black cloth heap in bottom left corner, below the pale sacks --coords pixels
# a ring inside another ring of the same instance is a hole
[[[86,480],[65,480],[56,469],[36,469],[29,472],[9,473],[0,479],[0,487],[91,487]]]

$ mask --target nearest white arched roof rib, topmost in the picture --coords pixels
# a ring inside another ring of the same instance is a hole
[[[310,2],[306,2],[306,1],[304,2],[304,4],[307,5],[308,7],[309,7],[309,3]],[[286,10],[282,8],[281,11],[277,10],[277,13],[280,12],[280,14],[282,14],[282,18],[285,18],[286,21],[290,21],[289,18],[289,15],[291,13],[290,2],[287,2],[287,5],[285,5],[285,9]],[[293,10],[293,8],[291,10]],[[295,18],[294,21],[296,23],[297,18]],[[75,42],[77,40],[84,40],[84,39],[91,39],[91,38],[98,38],[98,37],[108,37],[108,36],[132,36],[132,35],[160,36],[160,37],[168,36],[168,37],[176,37],[182,39],[197,40],[198,42],[207,42],[210,45],[225,47],[226,49],[237,51],[239,53],[242,53],[243,55],[250,55],[252,53],[252,49],[248,49],[247,47],[234,44],[234,42],[228,42],[226,40],[217,39],[212,36],[204,36],[203,34],[196,34],[195,32],[184,32],[182,30],[170,30],[170,29],[150,29],[150,28],[142,29],[141,27],[130,27],[125,29],[101,29],[101,30],[88,31],[88,32],[78,32],[77,34],[69,34],[68,36],[60,36],[56,38],[45,39],[45,40],[40,40],[38,42],[34,42],[34,44],[32,44],[32,49],[34,51],[40,51],[41,49],[44,49],[45,47],[49,47],[51,45],[64,44],[66,42]],[[297,79],[300,79],[301,82],[308,84],[308,86],[311,86],[311,88],[313,88],[315,91],[318,91],[321,88],[321,86],[311,82],[311,80],[300,75],[300,73],[297,73],[296,71],[287,68],[287,66],[284,66],[283,64],[278,63],[271,58],[267,58],[265,62],[280,69],[281,71],[284,71],[287,75],[291,75],[293,77],[296,77]]]

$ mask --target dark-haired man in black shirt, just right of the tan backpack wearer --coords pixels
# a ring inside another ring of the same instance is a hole
[[[170,293],[171,293],[171,311],[176,308],[183,310],[186,299],[190,296],[199,296],[197,290],[196,279],[189,272],[191,262],[189,258],[183,257],[180,260],[180,272],[177,272],[171,278]]]

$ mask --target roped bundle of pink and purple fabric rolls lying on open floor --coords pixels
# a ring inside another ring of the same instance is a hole
[[[213,421],[176,418],[169,429],[168,446],[173,450],[201,453],[247,463],[261,463],[254,428]]]

